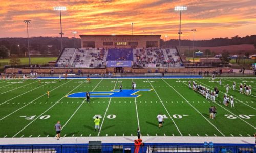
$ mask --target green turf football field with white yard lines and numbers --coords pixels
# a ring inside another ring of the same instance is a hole
[[[220,90],[216,103],[188,88],[188,80]],[[54,125],[60,120],[62,136],[136,136],[140,127],[143,136],[253,136],[256,132],[256,78],[225,78],[252,86],[252,94],[229,90],[235,108],[222,104],[225,88],[211,79],[81,79],[71,80],[0,80],[0,137],[53,137]],[[135,81],[139,91],[132,98],[68,98],[66,95],[84,91],[131,89]],[[46,92],[50,90],[50,98]],[[215,120],[209,119],[209,107],[217,107]],[[156,116],[164,114],[158,128]],[[95,115],[100,116],[101,131],[94,131]]]

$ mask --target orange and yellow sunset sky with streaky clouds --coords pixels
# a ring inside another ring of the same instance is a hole
[[[187,6],[182,12],[182,39],[196,40],[256,34],[256,0],[1,0],[0,37],[26,37],[26,24],[31,20],[30,36],[59,36],[59,12],[62,11],[65,37],[78,35],[160,34],[164,39],[178,39],[177,5]]]

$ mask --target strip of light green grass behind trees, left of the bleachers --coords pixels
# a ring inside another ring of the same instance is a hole
[[[29,58],[19,58],[22,64],[28,64]],[[0,63],[9,63],[10,59],[0,59]],[[49,61],[55,61],[57,57],[32,57],[31,63],[32,64],[47,64]]]

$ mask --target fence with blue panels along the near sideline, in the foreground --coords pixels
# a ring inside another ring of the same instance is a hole
[[[255,152],[254,146],[204,146],[204,145],[22,145],[1,146],[0,152]]]

